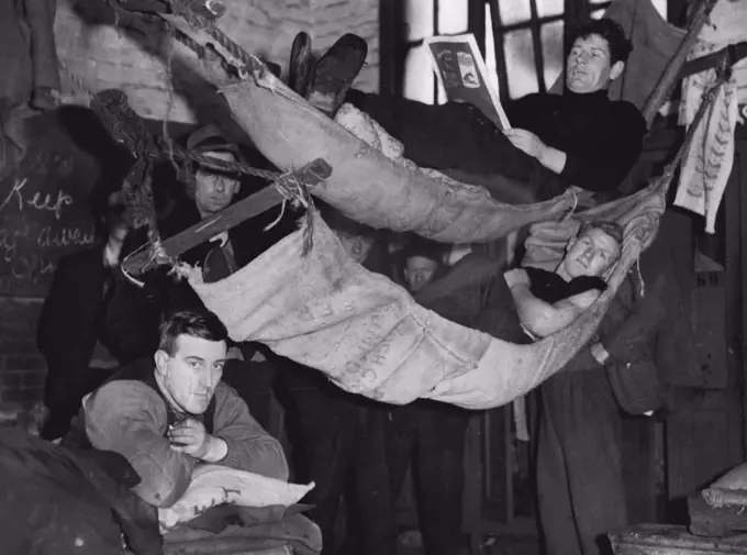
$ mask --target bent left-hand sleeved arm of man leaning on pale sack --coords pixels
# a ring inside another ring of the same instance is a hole
[[[171,449],[164,437],[166,406],[148,386],[112,381],[83,401],[86,433],[93,447],[123,455],[141,477],[135,493],[170,507],[187,490],[196,459]]]

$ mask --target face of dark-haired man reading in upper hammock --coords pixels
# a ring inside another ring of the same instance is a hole
[[[625,64],[611,64],[610,46],[600,35],[579,37],[568,54],[566,87],[581,95],[604,89],[623,73]]]

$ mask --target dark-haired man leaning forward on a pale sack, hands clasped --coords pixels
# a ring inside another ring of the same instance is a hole
[[[152,359],[123,367],[83,400],[64,445],[120,453],[141,477],[135,493],[156,507],[174,504],[201,464],[287,480],[282,447],[221,381],[226,353],[214,314],[175,313]]]

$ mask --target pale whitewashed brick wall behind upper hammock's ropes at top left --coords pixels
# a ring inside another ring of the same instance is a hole
[[[283,74],[298,32],[311,35],[317,54],[345,33],[360,35],[368,43],[368,58],[356,87],[378,90],[379,0],[222,1],[227,13],[218,26],[247,52],[280,65]],[[55,19],[59,58],[89,89],[122,89],[135,112],[154,120],[207,123],[220,113],[222,101],[212,88],[202,85],[200,73],[194,71],[199,62],[192,51],[166,38],[158,24],[135,33],[92,24],[81,16],[88,11],[81,7],[91,3],[100,0],[59,0]],[[192,69],[183,70],[182,66]],[[170,74],[183,90],[171,90]],[[87,103],[86,95],[66,76],[63,98],[68,103]]]

